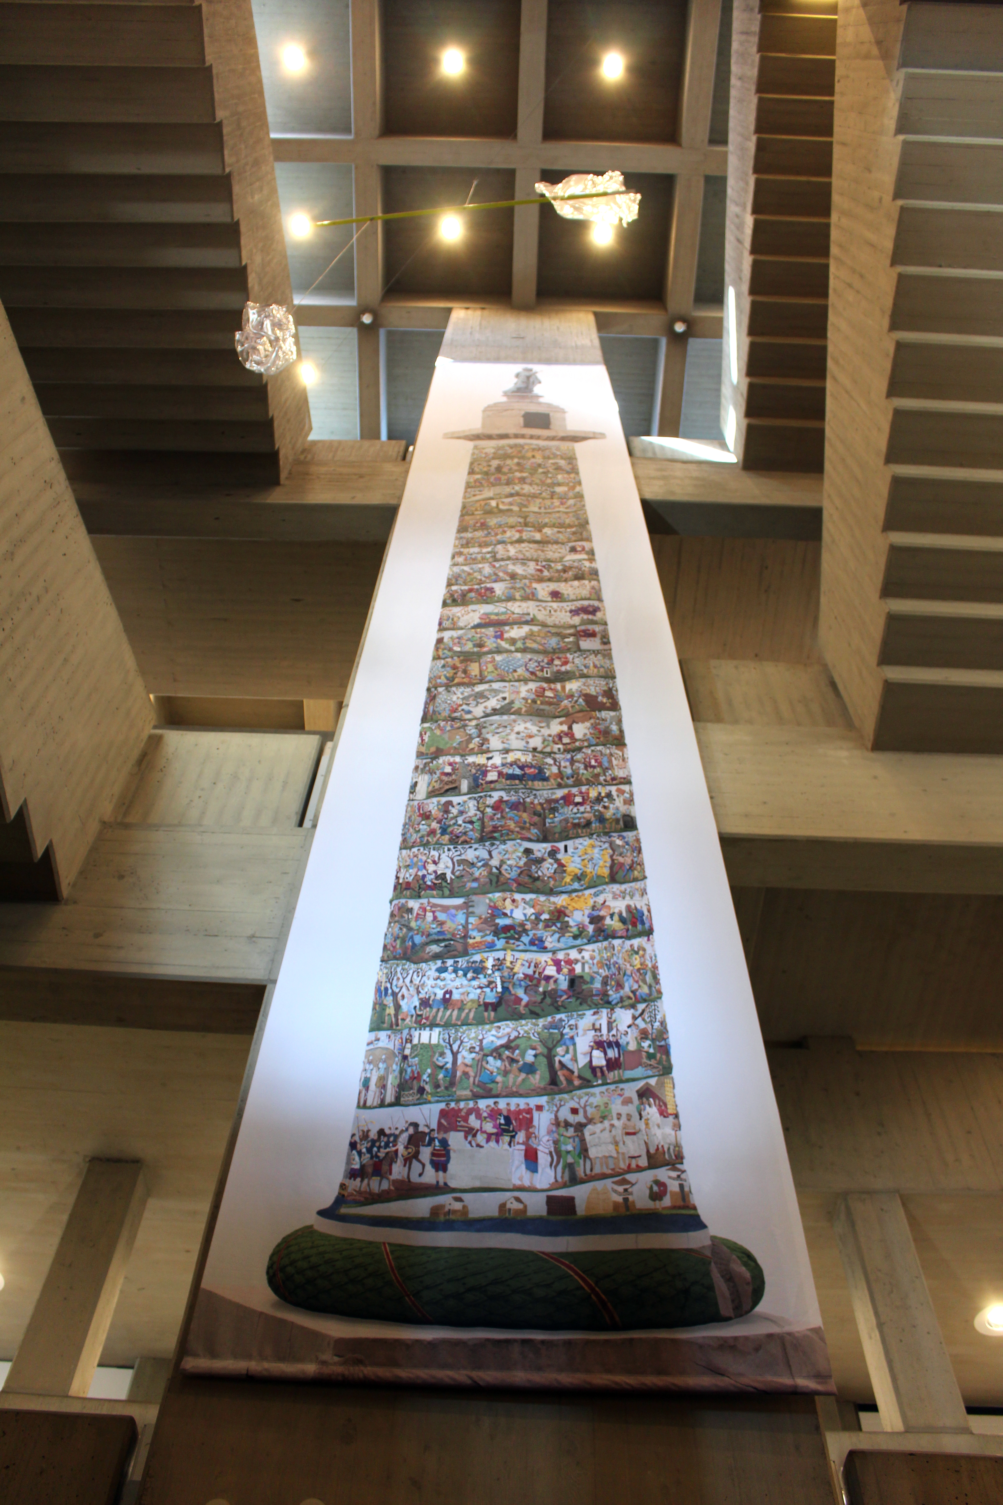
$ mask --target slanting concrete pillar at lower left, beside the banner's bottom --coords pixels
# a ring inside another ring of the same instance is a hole
[[[5,1391],[86,1395],[146,1207],[138,1160],[90,1160]]]

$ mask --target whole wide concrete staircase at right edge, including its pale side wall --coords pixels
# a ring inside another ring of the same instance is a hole
[[[1000,752],[1003,9],[851,0],[844,42],[823,640],[874,748]]]

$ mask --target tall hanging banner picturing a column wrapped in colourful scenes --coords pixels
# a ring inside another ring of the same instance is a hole
[[[639,510],[601,366],[436,370],[188,1373],[832,1389]]]

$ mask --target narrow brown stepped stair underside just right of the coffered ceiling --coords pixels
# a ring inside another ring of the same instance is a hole
[[[761,0],[746,470],[821,471],[836,0]]]

